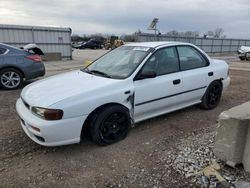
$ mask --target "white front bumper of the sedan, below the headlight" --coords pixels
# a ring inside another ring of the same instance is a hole
[[[20,98],[17,100],[16,110],[24,132],[40,145],[59,146],[79,143],[81,140],[81,130],[87,116],[57,121],[44,120],[32,114]],[[32,126],[40,131],[35,130]]]

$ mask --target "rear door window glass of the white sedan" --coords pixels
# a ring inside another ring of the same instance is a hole
[[[189,46],[178,46],[177,50],[179,53],[181,70],[207,66],[207,61],[196,49]]]

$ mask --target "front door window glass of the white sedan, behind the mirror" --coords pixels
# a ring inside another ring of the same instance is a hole
[[[143,71],[153,70],[157,76],[180,70],[175,47],[163,48],[156,51],[143,67]]]

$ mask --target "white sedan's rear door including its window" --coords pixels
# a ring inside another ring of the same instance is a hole
[[[183,76],[183,102],[187,105],[199,102],[213,77],[209,62],[192,46],[177,46],[177,51]]]

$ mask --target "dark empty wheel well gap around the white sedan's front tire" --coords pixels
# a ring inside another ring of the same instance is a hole
[[[87,137],[90,138],[90,133],[89,133],[89,126],[90,126],[90,122],[92,121],[92,119],[95,117],[95,115],[98,114],[98,112],[104,108],[108,108],[109,106],[113,106],[113,105],[117,105],[117,106],[122,106],[125,107],[128,111],[129,109],[119,103],[107,103],[104,105],[101,105],[99,107],[97,107],[95,110],[93,110],[87,117],[87,119],[85,120],[83,126],[82,126],[82,131],[81,131],[81,138]]]

